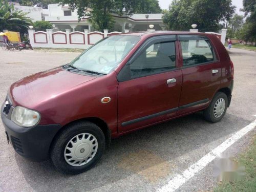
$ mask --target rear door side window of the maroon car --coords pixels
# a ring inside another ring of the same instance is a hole
[[[193,35],[183,35],[179,38],[184,67],[215,60],[214,50],[208,38]]]

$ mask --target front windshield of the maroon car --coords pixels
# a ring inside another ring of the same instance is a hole
[[[79,55],[69,67],[94,74],[109,74],[137,44],[140,37],[117,35],[104,38]]]

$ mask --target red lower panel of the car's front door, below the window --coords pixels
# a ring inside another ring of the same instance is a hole
[[[167,80],[172,78],[176,82],[167,84]],[[181,70],[120,82],[117,92],[119,132],[175,116],[181,84]]]

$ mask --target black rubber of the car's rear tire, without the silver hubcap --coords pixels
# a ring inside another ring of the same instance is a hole
[[[224,112],[222,113],[222,115],[217,118],[214,115],[214,107],[215,107],[216,102],[221,98],[223,98],[225,100],[225,109],[224,109]],[[215,94],[214,98],[211,100],[208,108],[204,111],[204,118],[207,121],[212,122],[212,123],[219,122],[223,118],[223,116],[225,115],[225,113],[227,111],[227,105],[228,105],[227,95],[222,92],[217,92]]]

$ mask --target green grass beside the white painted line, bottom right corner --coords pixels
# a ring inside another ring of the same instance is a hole
[[[214,188],[215,192],[256,191],[256,135],[247,151],[239,155],[236,161],[245,166],[245,179],[242,181],[222,182]]]

